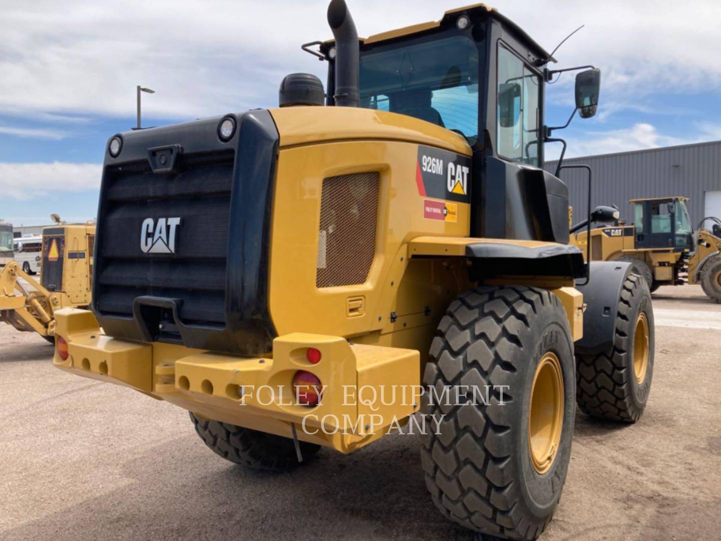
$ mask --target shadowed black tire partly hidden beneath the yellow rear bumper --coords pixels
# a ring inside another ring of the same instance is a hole
[[[213,452],[235,464],[254,470],[288,471],[299,465],[293,440],[220,421],[205,420],[190,413],[195,431]],[[319,445],[300,441],[303,463],[315,456]]]

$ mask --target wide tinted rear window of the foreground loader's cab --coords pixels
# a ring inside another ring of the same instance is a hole
[[[462,35],[361,50],[361,107],[478,134],[477,44]]]

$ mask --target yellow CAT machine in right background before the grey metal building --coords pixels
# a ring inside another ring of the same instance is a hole
[[[721,220],[709,216],[694,231],[686,207],[689,198],[632,199],[634,223],[616,221],[590,231],[590,258],[627,261],[656,291],[660,286],[700,284],[704,293],[721,302]],[[617,217],[617,216],[616,216]],[[711,229],[704,225],[711,222]],[[585,247],[583,224],[572,242]]]

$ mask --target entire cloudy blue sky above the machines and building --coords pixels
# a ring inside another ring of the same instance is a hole
[[[467,1],[467,0],[466,0]],[[361,35],[438,19],[446,0],[348,0]],[[494,5],[547,49],[558,67],[603,72],[601,106],[563,132],[583,156],[721,139],[721,59],[712,2],[566,0]],[[57,212],[92,218],[107,138],[135,124],[163,125],[272,107],[284,74],[324,72],[299,50],[329,37],[325,0],[117,2],[37,0],[3,6],[0,19],[0,218],[45,224]],[[688,14],[694,13],[694,17]],[[379,17],[382,14],[382,17]],[[324,80],[324,76],[322,76]],[[547,123],[565,123],[573,75],[548,87]],[[558,133],[560,134],[560,132]],[[547,157],[557,150],[549,147]]]

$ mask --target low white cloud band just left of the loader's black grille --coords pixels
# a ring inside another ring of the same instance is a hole
[[[0,193],[19,200],[97,190],[101,175],[100,164],[0,162]]]

